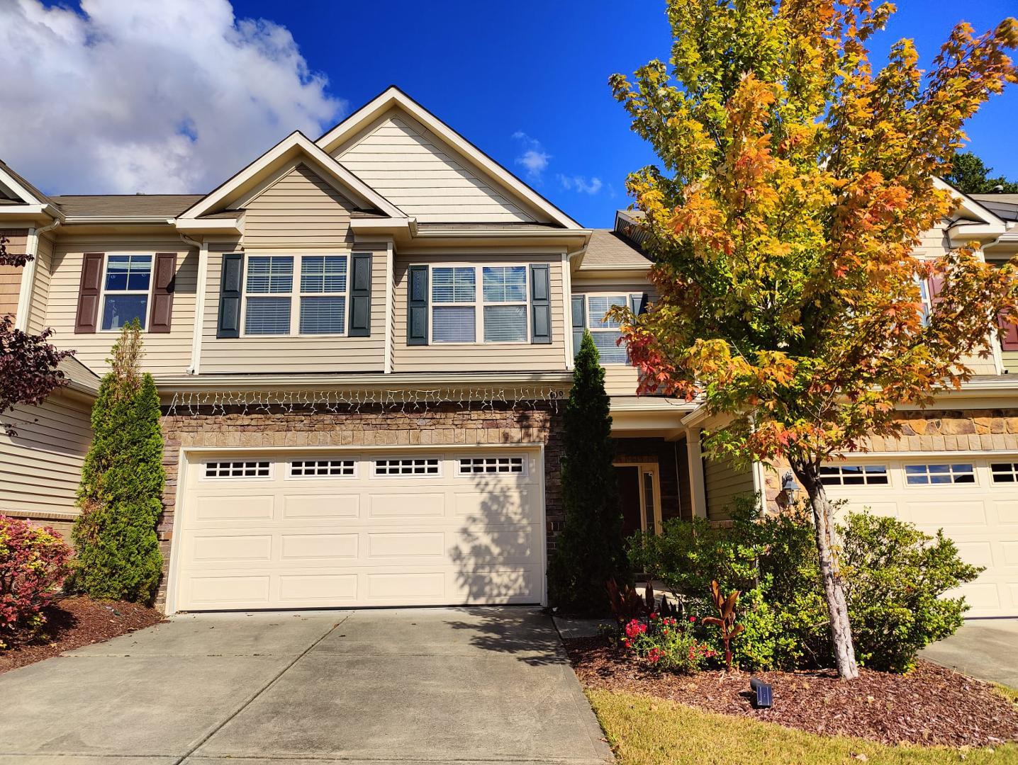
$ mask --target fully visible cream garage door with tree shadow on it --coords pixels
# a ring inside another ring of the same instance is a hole
[[[184,484],[178,610],[543,600],[536,451],[203,454]]]

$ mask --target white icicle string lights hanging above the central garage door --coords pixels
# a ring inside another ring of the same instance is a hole
[[[218,391],[175,393],[167,408],[170,416],[197,417],[203,411],[227,414],[312,414],[343,412],[359,414],[362,410],[385,412],[421,412],[440,406],[457,405],[460,411],[495,411],[496,405],[531,411],[548,404],[557,413],[559,401],[568,395],[561,388],[454,388],[454,389],[374,389],[343,391]]]

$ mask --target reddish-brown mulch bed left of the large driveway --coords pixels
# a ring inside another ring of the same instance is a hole
[[[101,643],[163,622],[155,608],[120,600],[93,600],[82,595],[61,597],[46,610],[45,637],[0,650],[0,674],[48,659],[63,651]]]

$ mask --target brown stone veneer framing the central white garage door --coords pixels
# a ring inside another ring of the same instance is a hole
[[[156,604],[162,607],[166,602],[181,448],[544,444],[545,520],[551,551],[555,548],[555,536],[564,522],[559,466],[562,454],[561,412],[564,406],[564,402],[559,402],[558,410],[553,404],[513,409],[495,404],[494,408],[482,410],[480,405],[474,403],[470,409],[448,404],[412,412],[362,408],[359,412],[247,414],[238,408],[228,407],[225,414],[221,408],[215,413],[211,408],[201,408],[193,410],[193,414],[191,411],[178,411],[173,415],[164,409],[166,490],[158,529],[163,553],[163,580]]]

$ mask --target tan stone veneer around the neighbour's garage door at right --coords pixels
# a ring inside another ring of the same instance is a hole
[[[901,436],[873,436],[866,446],[869,452],[992,452],[1018,451],[1018,409],[926,409],[901,412]],[[783,464],[765,470],[767,504],[778,508]]]

